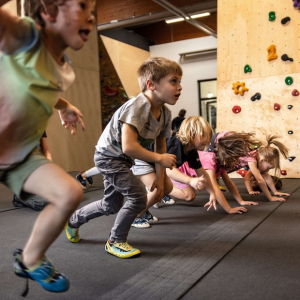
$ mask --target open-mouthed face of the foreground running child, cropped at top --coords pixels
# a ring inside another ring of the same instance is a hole
[[[88,40],[95,18],[91,0],[58,1],[58,13],[53,25],[58,32],[57,42],[63,47],[81,49]]]

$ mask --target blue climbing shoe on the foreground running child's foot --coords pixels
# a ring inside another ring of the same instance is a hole
[[[46,256],[44,256],[39,266],[29,270],[22,263],[22,252],[23,250],[21,249],[16,249],[14,252],[14,256],[16,257],[14,269],[17,276],[34,280],[49,292],[60,293],[69,289],[70,282],[68,278],[64,274],[57,272],[52,262]],[[28,282],[27,290],[24,292],[25,296],[27,292]]]

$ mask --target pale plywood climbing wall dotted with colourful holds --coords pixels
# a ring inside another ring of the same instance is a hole
[[[300,3],[297,0],[218,1],[217,130],[281,136],[300,169]],[[296,7],[294,6],[294,3]]]

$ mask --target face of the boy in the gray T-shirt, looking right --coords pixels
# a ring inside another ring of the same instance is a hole
[[[163,77],[158,83],[154,83],[154,94],[157,100],[170,105],[176,104],[181,94],[181,76],[169,74]]]

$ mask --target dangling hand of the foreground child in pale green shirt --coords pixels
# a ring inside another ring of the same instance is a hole
[[[82,130],[84,130],[84,123],[82,121],[82,113],[81,111],[71,105],[67,100],[63,98],[59,98],[58,101],[56,102],[54,108],[58,110],[60,119],[61,119],[61,124],[66,128],[69,129],[70,126],[72,127],[71,129],[71,134],[76,133],[76,123],[78,122]]]

